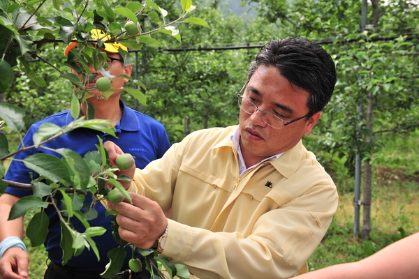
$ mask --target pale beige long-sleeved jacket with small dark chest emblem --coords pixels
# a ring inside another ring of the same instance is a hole
[[[240,179],[235,127],[191,133],[137,169],[138,191],[172,209],[162,255],[198,278],[307,271],[337,209],[335,184],[302,142]]]

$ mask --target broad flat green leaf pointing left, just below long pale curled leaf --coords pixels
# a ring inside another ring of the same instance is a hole
[[[34,170],[39,175],[45,176],[51,181],[71,181],[67,166],[55,156],[36,153],[25,158],[23,163],[29,169]]]

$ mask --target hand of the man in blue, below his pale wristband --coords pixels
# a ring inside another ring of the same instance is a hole
[[[12,247],[0,259],[1,279],[27,279],[29,257],[22,248]]]

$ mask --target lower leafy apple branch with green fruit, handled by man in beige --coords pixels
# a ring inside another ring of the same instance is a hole
[[[0,130],[5,128],[5,124],[13,129],[20,127],[22,123],[22,111],[8,104],[0,103],[0,118],[6,119],[0,121]],[[72,114],[77,111],[78,105],[73,104],[71,107]],[[8,116],[6,117],[6,113]],[[22,147],[14,153],[8,153],[8,141],[3,133],[0,133],[0,160],[10,159],[15,153],[20,151],[39,148],[46,142],[71,132],[77,128],[91,128],[102,130],[110,135],[115,136],[115,130],[110,127],[110,121],[102,119],[86,120],[84,117],[75,119],[68,126],[53,127],[50,123],[44,124],[34,134],[34,145]],[[100,236],[105,232],[103,227],[90,227],[89,220],[97,218],[95,204],[97,202],[122,202],[127,199],[131,202],[131,196],[126,192],[119,181],[131,181],[128,176],[117,176],[115,172],[126,171],[133,167],[134,158],[131,154],[125,153],[117,157],[115,163],[117,167],[110,165],[108,153],[103,147],[103,142],[98,137],[97,151],[91,151],[83,157],[70,149],[57,149],[55,152],[62,156],[62,159],[45,153],[35,153],[34,155],[24,158],[24,165],[33,169],[39,174],[38,179],[31,181],[31,184],[15,183],[13,181],[0,180],[0,190],[3,192],[7,186],[24,188],[32,190],[32,195],[22,197],[16,202],[11,211],[9,220],[20,218],[28,211],[39,210],[38,213],[29,221],[27,226],[27,237],[31,241],[32,246],[39,246],[45,242],[48,234],[49,221],[43,209],[47,206],[53,206],[57,211],[61,223],[61,243],[63,249],[62,264],[66,264],[71,257],[80,255],[84,249],[91,249],[99,259],[98,249],[94,242],[94,236]],[[16,159],[12,159],[16,160]],[[71,160],[73,164],[66,161]],[[3,164],[0,165],[0,175],[5,175],[6,169]],[[63,206],[61,209],[57,206],[57,195],[61,195]],[[93,197],[92,204],[84,203],[84,195]],[[131,260],[128,262],[130,268],[140,270],[145,268],[152,273],[153,276],[164,278],[161,269],[164,269],[172,278],[189,278],[189,271],[181,264],[172,264],[170,259],[162,257],[154,250],[141,250],[135,248],[131,243],[127,243],[118,233],[118,225],[116,222],[115,211],[106,211],[106,215],[114,215],[111,218],[112,235],[114,240],[119,244],[118,248],[108,252],[109,264],[105,271],[101,274],[103,278],[111,278],[122,268],[124,258],[126,256],[126,246],[131,247]],[[71,218],[77,218],[84,225],[85,231],[78,232],[73,229]],[[142,266],[138,257],[141,254],[145,257],[145,266]],[[141,264],[141,265],[140,265]]]

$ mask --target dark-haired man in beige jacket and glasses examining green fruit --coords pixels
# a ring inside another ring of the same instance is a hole
[[[238,126],[191,133],[132,170],[133,204],[109,204],[122,239],[198,278],[307,272],[337,209],[335,184],[301,141],[332,96],[330,55],[306,39],[272,40],[248,77],[237,94]],[[106,148],[111,161],[122,153]]]

